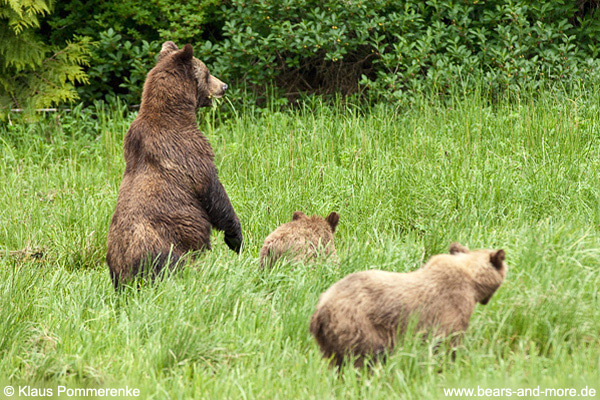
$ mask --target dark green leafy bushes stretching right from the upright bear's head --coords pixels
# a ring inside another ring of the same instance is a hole
[[[598,1],[233,0],[205,44],[223,78],[288,96],[362,88],[403,100],[476,78],[493,92],[595,74]]]

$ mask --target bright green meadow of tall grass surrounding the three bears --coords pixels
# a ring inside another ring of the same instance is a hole
[[[181,273],[121,295],[104,257],[135,112],[98,103],[0,127],[0,386],[127,385],[146,399],[600,392],[597,90],[199,116],[244,251],[215,232]],[[295,210],[341,215],[339,264],[259,269],[264,238]],[[329,368],[308,332],[319,295],[354,271],[414,270],[453,241],[503,248],[510,265],[456,360],[406,338],[371,373]]]

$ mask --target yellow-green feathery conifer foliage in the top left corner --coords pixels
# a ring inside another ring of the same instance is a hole
[[[43,108],[77,98],[75,83],[87,82],[90,40],[73,37],[52,46],[38,33],[52,2],[0,3],[0,119],[10,108]]]

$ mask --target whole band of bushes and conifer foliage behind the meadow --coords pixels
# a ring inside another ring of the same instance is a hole
[[[238,99],[412,102],[457,80],[506,89],[600,77],[598,0],[12,0],[0,3],[0,106],[139,103],[160,44],[192,43]],[[83,23],[85,21],[85,23]],[[27,45],[25,45],[27,44]],[[17,75],[18,79],[13,79]],[[244,93],[242,96],[241,94]],[[242,101],[242,100],[239,100]]]

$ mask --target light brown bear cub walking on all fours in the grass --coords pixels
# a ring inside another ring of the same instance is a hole
[[[470,251],[458,243],[420,269],[350,274],[321,295],[310,321],[325,358],[384,355],[414,318],[416,332],[448,336],[464,332],[477,303],[487,304],[508,269],[504,250]],[[452,340],[457,343],[458,336]]]

